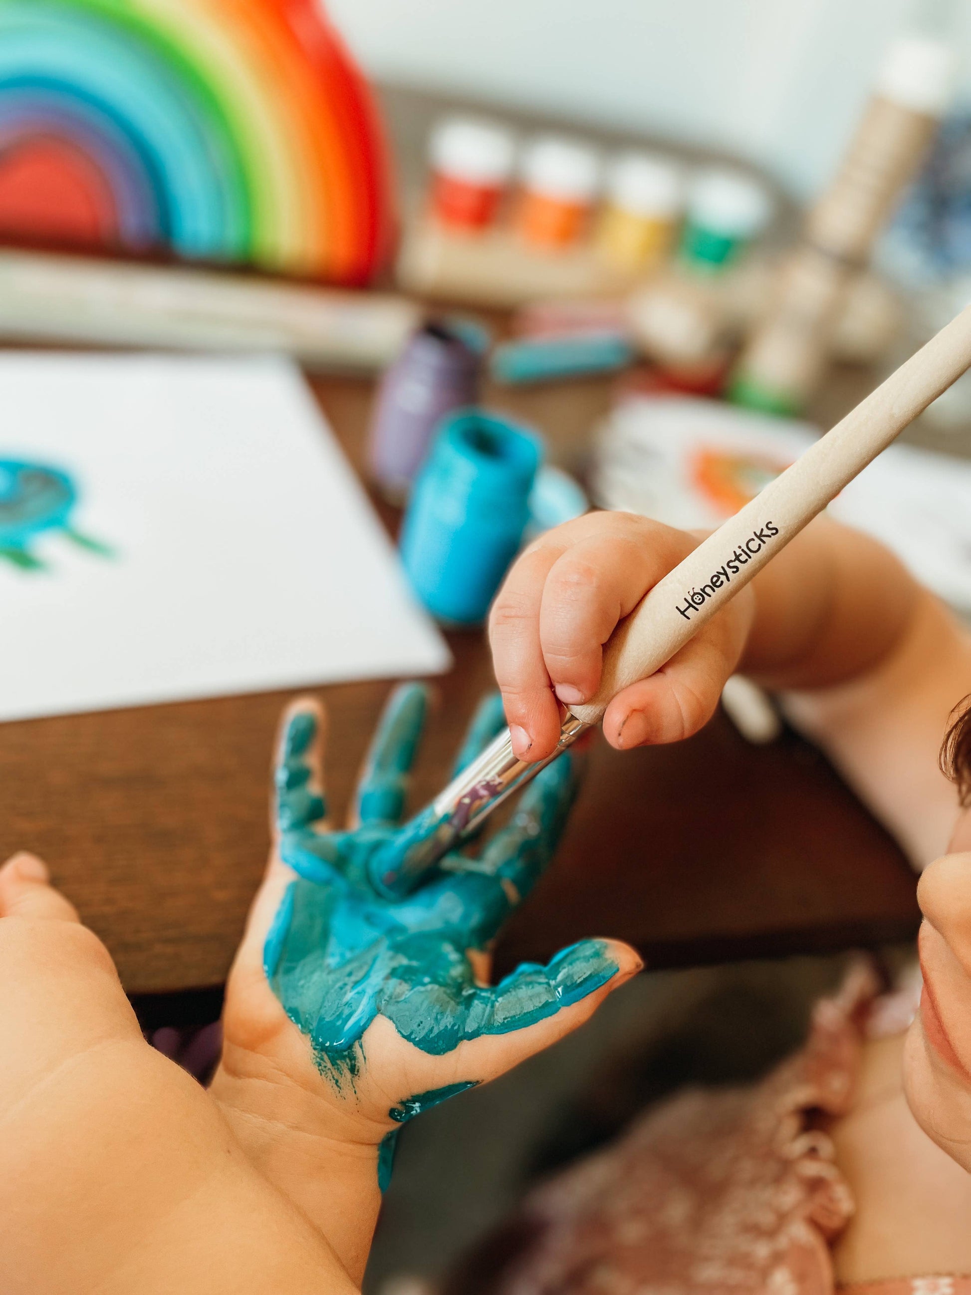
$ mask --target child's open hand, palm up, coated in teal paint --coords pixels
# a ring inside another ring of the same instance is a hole
[[[267,1119],[281,1120],[353,1147],[372,1184],[378,1173],[386,1181],[403,1123],[555,1042],[641,965],[627,945],[585,940],[546,966],[523,965],[488,983],[489,947],[566,824],[570,756],[535,780],[478,855],[447,855],[405,899],[375,890],[374,853],[414,833],[401,817],[425,711],[419,685],[392,695],[346,831],[330,830],[326,818],[322,712],[302,701],[285,715],[276,842],[229,980],[214,1083],[237,1111],[264,1085],[263,1096],[272,1094],[264,1129]],[[460,767],[501,724],[493,697],[473,723]]]

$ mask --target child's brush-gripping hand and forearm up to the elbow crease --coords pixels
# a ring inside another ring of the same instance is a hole
[[[618,622],[699,543],[650,518],[588,513],[519,558],[492,609],[489,637],[520,759],[553,751],[558,703],[576,707],[597,694],[603,644]],[[773,689],[853,679],[892,650],[919,597],[887,549],[820,518],[667,664],[614,697],[605,737],[619,750],[691,737],[735,671]]]

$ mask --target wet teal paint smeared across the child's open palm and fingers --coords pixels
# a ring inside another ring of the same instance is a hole
[[[369,763],[392,768],[396,780],[407,777],[423,717],[416,688],[394,694]],[[533,780],[480,859],[454,851],[447,870],[413,895],[388,899],[370,881],[372,860],[412,838],[419,820],[318,831],[324,802],[308,789],[315,733],[313,715],[298,715],[281,746],[280,851],[298,878],[267,936],[264,969],[286,1014],[309,1037],[322,1075],[353,1085],[365,1064],[363,1036],[378,1015],[422,1052],[443,1055],[463,1040],[535,1024],[616,974],[601,940],[564,949],[545,967],[524,963],[495,987],[475,983],[469,960],[469,951],[489,945],[553,856],[575,790],[568,754]],[[379,746],[405,742],[407,758]]]

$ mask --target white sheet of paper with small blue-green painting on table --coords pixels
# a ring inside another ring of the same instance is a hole
[[[0,355],[3,460],[66,471],[113,553],[49,528],[41,570],[0,558],[0,720],[451,663],[285,360]]]

